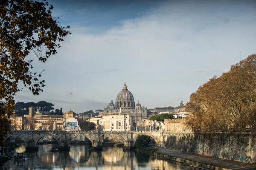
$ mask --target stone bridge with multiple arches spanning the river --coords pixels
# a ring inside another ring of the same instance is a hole
[[[163,136],[161,131],[45,131],[45,130],[15,130],[6,138],[17,137],[23,139],[26,147],[35,148],[38,141],[44,136],[52,136],[58,142],[59,149],[69,148],[72,139],[84,140],[88,138],[93,147],[102,147],[102,142],[110,137],[115,136],[122,139],[125,148],[134,147],[136,139],[139,135],[144,134],[154,139],[158,144],[163,143]]]

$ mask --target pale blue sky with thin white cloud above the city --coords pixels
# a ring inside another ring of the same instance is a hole
[[[52,102],[82,113],[116,101],[126,82],[148,109],[177,107],[230,66],[256,53],[254,0],[50,0],[53,16],[70,26],[43,69],[44,92],[15,101]]]

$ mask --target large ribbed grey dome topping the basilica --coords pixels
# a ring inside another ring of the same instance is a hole
[[[119,108],[135,108],[134,96],[128,91],[126,84],[116,97],[116,109]]]

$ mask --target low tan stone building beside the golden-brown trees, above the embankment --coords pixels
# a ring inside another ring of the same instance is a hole
[[[192,128],[186,123],[186,119],[164,119],[164,130],[171,132],[191,132]]]

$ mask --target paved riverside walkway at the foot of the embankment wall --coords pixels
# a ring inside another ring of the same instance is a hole
[[[183,164],[204,170],[256,170],[256,164],[249,164],[226,159],[222,160],[221,158],[204,156],[196,153],[188,153],[179,150],[172,150],[165,147],[157,148],[158,150],[154,153],[154,155],[158,158],[181,162]]]

